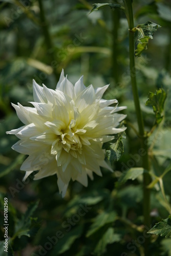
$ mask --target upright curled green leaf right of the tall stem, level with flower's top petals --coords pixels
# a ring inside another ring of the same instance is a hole
[[[152,106],[156,116],[156,122],[159,124],[162,119],[162,112],[164,109],[164,102],[166,100],[166,92],[163,89],[156,90],[156,93],[149,92],[146,106]]]

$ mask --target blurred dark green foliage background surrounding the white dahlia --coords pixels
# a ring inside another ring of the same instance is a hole
[[[9,255],[144,255],[142,177],[125,184],[119,181],[126,169],[141,166],[139,140],[129,126],[129,123],[135,127],[137,124],[129,75],[128,26],[124,14],[109,7],[89,14],[94,3],[85,0],[0,2],[0,237],[3,241],[3,204],[7,197]],[[41,4],[46,22],[40,13]],[[148,132],[155,122],[152,108],[145,106],[148,92],[159,88],[167,91],[163,125],[150,140],[154,144],[152,169],[161,175],[171,158],[171,3],[134,1],[133,10],[135,25],[151,20],[162,26],[154,39],[149,40],[147,51],[136,59],[139,96]],[[71,182],[64,199],[58,193],[55,176],[37,181],[30,178],[27,184],[23,183],[24,173],[19,168],[26,156],[11,150],[17,138],[5,134],[22,126],[10,102],[30,106],[32,79],[55,89],[62,68],[73,83],[82,74],[86,86],[110,83],[104,98],[116,98],[120,106],[127,105],[124,154],[114,161],[115,172],[111,174],[103,169],[103,177],[89,180],[87,188]],[[163,181],[169,199],[170,173]],[[156,185],[152,189],[152,226],[168,217],[158,188]],[[78,215],[81,205],[89,207],[84,216]],[[56,236],[59,230],[63,237],[51,243],[52,248],[48,245],[46,248],[48,237]],[[171,255],[170,238],[150,236],[151,255]]]

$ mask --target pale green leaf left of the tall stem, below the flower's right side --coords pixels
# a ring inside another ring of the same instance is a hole
[[[142,167],[131,168],[127,170],[126,173],[123,173],[123,175],[119,178],[119,182],[124,184],[127,180],[135,180],[143,173],[147,173],[147,170]]]

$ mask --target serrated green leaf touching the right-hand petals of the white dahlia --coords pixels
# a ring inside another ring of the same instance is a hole
[[[110,150],[106,150],[106,157],[113,164],[118,161],[124,152],[122,138],[119,138],[115,143],[110,146]]]

